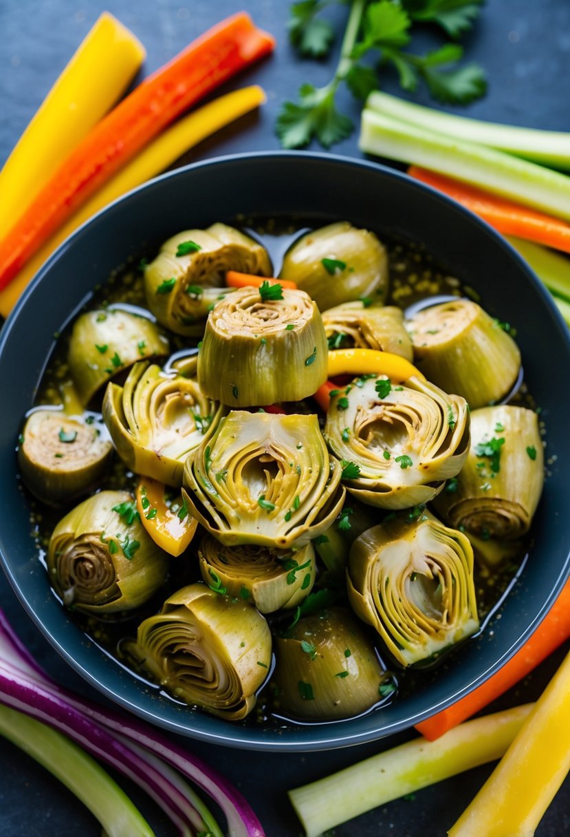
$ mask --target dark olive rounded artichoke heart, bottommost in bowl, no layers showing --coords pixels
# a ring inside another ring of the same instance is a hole
[[[386,675],[374,645],[348,608],[299,619],[275,639],[277,711],[303,720],[361,715],[380,701]]]

